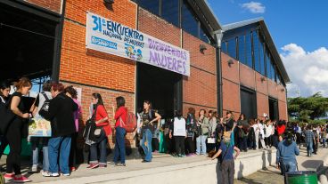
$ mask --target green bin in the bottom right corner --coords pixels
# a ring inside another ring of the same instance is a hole
[[[317,184],[316,172],[287,172],[285,173],[286,184]]]

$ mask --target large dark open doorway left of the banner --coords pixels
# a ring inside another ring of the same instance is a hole
[[[17,81],[21,76],[32,80],[30,96],[52,75],[55,28],[49,20],[27,4],[0,3],[0,81]]]

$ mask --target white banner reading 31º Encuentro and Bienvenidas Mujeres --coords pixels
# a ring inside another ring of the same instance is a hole
[[[190,76],[188,51],[92,12],[86,12],[86,48]]]

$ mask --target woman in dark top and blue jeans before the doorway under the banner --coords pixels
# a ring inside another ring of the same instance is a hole
[[[161,117],[158,113],[152,110],[152,103],[149,100],[143,101],[143,112],[141,117],[143,119],[143,140],[141,141],[141,145],[145,155],[143,163],[149,163],[152,162],[152,123],[158,122]]]

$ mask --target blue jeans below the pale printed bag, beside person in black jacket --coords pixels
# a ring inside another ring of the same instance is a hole
[[[40,143],[40,140],[42,141],[42,152],[44,155],[42,167],[44,172],[49,171],[49,157],[48,157],[48,138],[38,138],[38,137],[32,137],[31,138],[31,147],[32,147],[32,164],[37,165],[38,164],[38,145]]]

